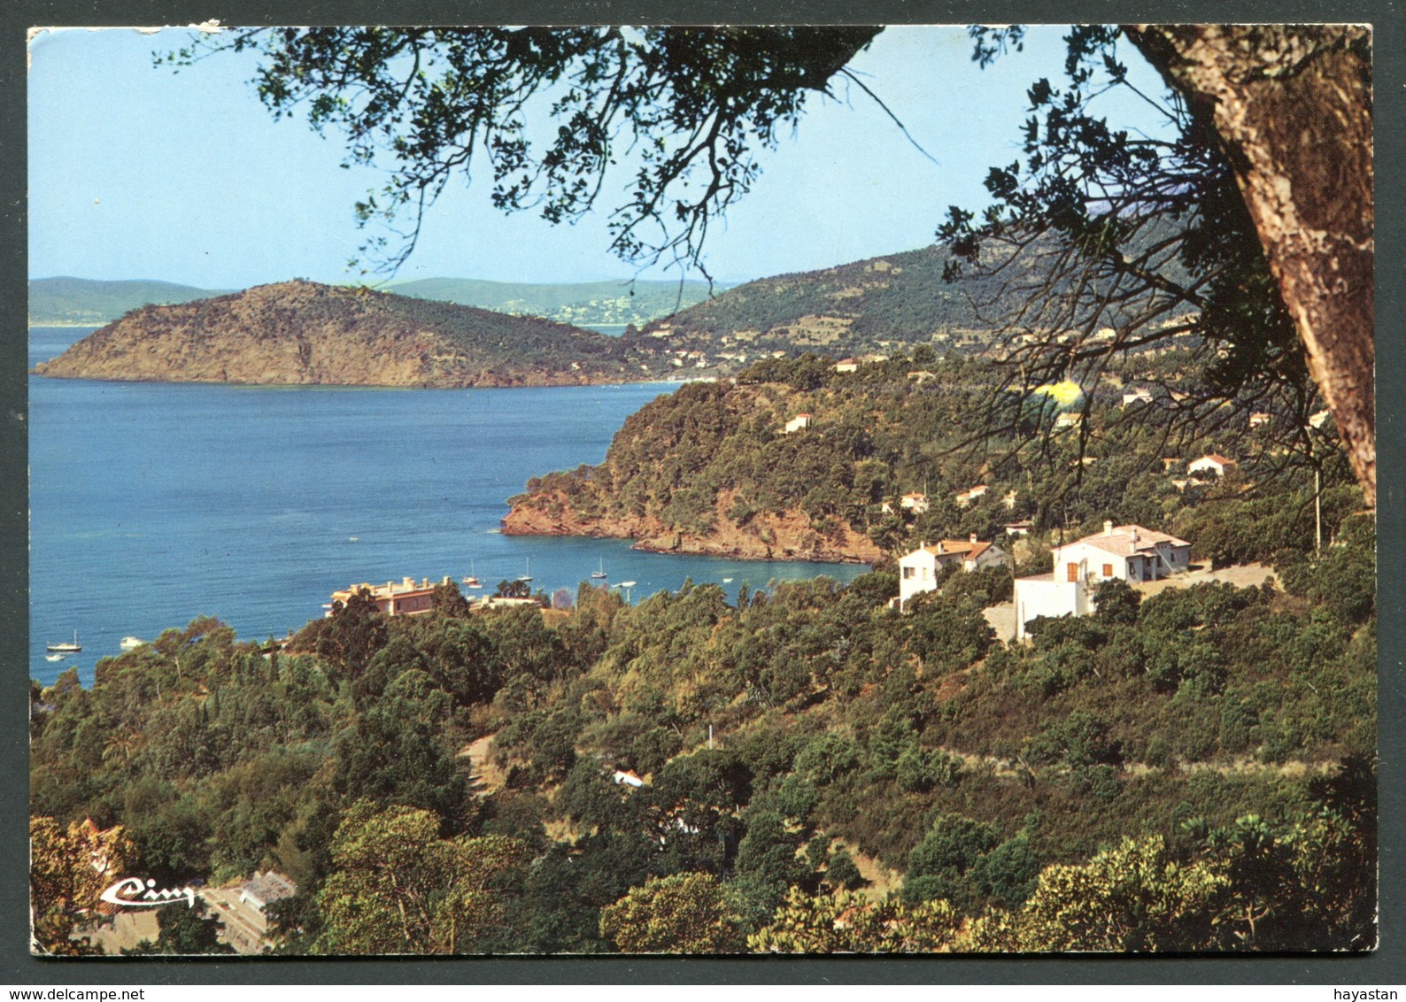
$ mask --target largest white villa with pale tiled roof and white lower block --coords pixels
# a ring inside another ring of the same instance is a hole
[[[1015,579],[1015,639],[1025,639],[1025,624],[1038,616],[1092,613],[1099,582],[1160,580],[1187,571],[1191,544],[1142,526],[1105,521],[1102,533],[1056,547],[1053,564],[1047,575]]]

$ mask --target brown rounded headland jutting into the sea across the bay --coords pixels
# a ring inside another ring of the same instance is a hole
[[[142,306],[35,368],[152,382],[551,386],[668,368],[648,347],[538,318],[307,281]]]

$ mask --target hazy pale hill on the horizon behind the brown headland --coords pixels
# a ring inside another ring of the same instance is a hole
[[[714,291],[725,288],[714,285]],[[391,292],[443,299],[498,313],[544,316],[576,326],[644,326],[707,299],[709,287],[686,281],[605,281],[576,284],[491,282],[475,278],[418,278],[395,282]]]

